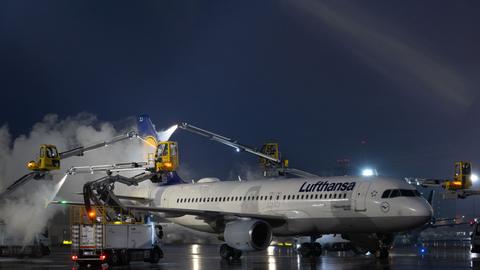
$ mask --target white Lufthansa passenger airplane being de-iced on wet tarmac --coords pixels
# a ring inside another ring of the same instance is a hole
[[[151,121],[142,121],[139,134],[155,138],[158,133],[149,125]],[[273,236],[309,236],[311,242],[303,243],[300,253],[318,257],[322,248],[315,240],[324,234],[340,234],[377,258],[387,258],[394,233],[424,226],[433,213],[406,181],[381,176],[184,182],[168,174],[156,186],[127,190],[116,193],[126,199],[122,208],[216,234],[225,242],[220,247],[225,259],[264,250]]]

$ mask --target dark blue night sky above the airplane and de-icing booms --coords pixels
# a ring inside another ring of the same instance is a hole
[[[336,160],[396,177],[480,166],[476,1],[0,3],[0,125],[48,113],[141,113],[260,146],[330,174]],[[178,133],[193,175],[256,159]],[[362,144],[362,141],[364,142]]]

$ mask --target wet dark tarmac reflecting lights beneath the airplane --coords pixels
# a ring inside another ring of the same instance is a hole
[[[394,249],[387,261],[350,252],[326,252],[320,258],[302,259],[294,249],[270,247],[246,254],[239,261],[221,260],[218,246],[170,245],[158,264],[131,262],[110,269],[480,269],[480,258],[466,248],[434,248],[421,254],[416,248]],[[108,267],[105,267],[108,268]],[[55,249],[40,259],[0,257],[0,269],[78,269],[70,261],[69,249]]]

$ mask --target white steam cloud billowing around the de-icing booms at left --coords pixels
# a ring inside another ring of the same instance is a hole
[[[8,127],[0,128],[0,193],[21,176],[29,173],[25,164],[38,158],[41,144],[56,145],[60,152],[111,139],[114,136],[136,129],[131,123],[125,130],[116,130],[107,122],[100,122],[92,114],[81,113],[73,117],[59,119],[51,114],[35,124],[28,135],[12,138]],[[0,221],[6,224],[6,231],[28,243],[35,234],[41,232],[48,220],[61,206],[46,207],[55,196],[68,200],[80,200],[73,195],[82,191],[86,181],[100,178],[100,175],[69,176],[60,190],[61,178],[71,166],[113,164],[120,162],[145,161],[152,148],[139,140],[126,140],[102,149],[85,153],[82,157],[62,160],[61,170],[54,172],[52,181],[32,180],[0,202]]]

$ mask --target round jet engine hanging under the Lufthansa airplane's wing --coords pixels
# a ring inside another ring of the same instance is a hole
[[[257,219],[237,220],[225,225],[224,238],[227,245],[242,251],[266,249],[272,241],[272,228]]]

